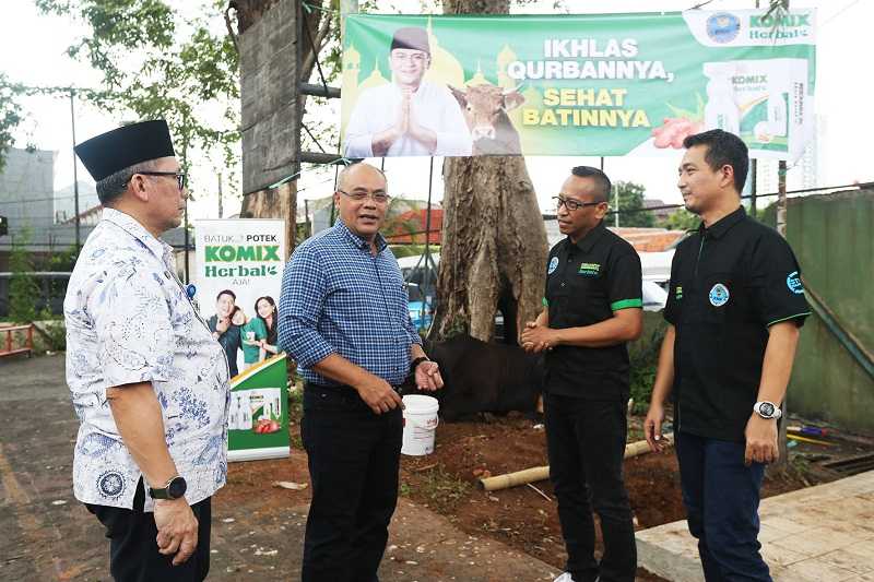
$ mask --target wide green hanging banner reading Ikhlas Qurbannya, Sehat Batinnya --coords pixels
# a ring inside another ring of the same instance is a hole
[[[813,136],[815,11],[765,14],[351,14],[343,152],[660,155],[721,128],[793,161]]]

